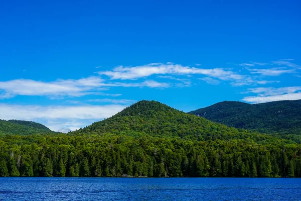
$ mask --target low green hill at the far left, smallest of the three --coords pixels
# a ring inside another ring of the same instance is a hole
[[[56,133],[46,126],[30,121],[0,120],[0,135],[33,135]]]

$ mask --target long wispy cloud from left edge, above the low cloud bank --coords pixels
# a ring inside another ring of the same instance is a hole
[[[50,98],[62,98],[65,96],[79,97],[84,95],[118,96],[101,92],[109,87],[150,87],[167,88],[169,83],[145,80],[137,83],[106,82],[99,77],[82,79],[58,79],[56,81],[36,81],[32,79],[15,79],[0,81],[0,98],[11,98],[16,95],[41,95]]]

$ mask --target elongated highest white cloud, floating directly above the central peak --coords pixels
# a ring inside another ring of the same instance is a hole
[[[223,68],[203,69],[180,64],[150,63],[142,66],[117,66],[111,71],[99,71],[100,75],[106,75],[110,79],[138,79],[151,75],[167,74],[202,74],[221,80],[242,79],[243,76]]]

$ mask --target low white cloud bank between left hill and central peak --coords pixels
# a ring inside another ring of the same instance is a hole
[[[0,104],[0,119],[36,121],[57,131],[62,128],[76,130],[95,121],[111,117],[127,105],[103,106],[35,106]]]

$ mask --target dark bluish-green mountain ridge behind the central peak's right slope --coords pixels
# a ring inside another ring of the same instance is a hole
[[[301,100],[253,105],[225,101],[189,114],[260,133],[301,134]]]

